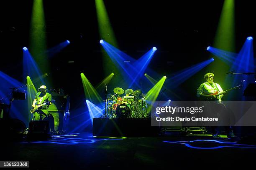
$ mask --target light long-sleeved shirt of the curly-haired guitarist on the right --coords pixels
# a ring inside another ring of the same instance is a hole
[[[210,85],[209,82],[204,82],[197,89],[197,97],[200,97],[202,94],[210,95],[210,94],[215,93],[217,91],[218,91],[218,93],[223,92],[223,90],[222,90],[222,88],[220,87],[219,84],[214,82],[214,83],[212,83],[212,85]],[[223,95],[219,95],[217,97],[219,102],[221,102],[221,97],[223,97]]]

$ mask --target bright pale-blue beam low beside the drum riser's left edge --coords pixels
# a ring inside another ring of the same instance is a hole
[[[91,122],[92,122],[93,118],[98,118],[104,114],[105,103],[101,103],[100,107],[98,107],[97,105],[93,104],[89,100],[86,100],[85,102],[86,102],[88,110],[89,110]]]

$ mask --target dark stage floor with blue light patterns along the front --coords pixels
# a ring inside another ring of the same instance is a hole
[[[2,142],[5,138],[1,138]],[[0,161],[27,161],[31,169],[223,168],[254,165],[256,144],[232,143],[211,135],[177,134],[147,138],[54,135],[38,142],[4,142]]]

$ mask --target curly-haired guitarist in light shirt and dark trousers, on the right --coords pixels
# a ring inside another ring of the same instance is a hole
[[[216,100],[216,107],[211,108],[214,109],[215,112],[221,112],[221,110],[227,110],[225,105],[223,104],[221,98],[224,96],[226,93],[225,91],[222,90],[219,84],[213,82],[214,80],[214,74],[212,72],[208,72],[204,75],[204,78],[206,82],[202,83],[200,87],[197,89],[197,97],[204,98],[205,100]],[[222,95],[211,95],[215,92],[221,93],[223,92]],[[227,110],[228,112],[228,110]],[[217,126],[211,126],[211,131],[212,131],[212,136],[214,138],[218,138],[219,135],[216,133],[217,132]],[[233,134],[233,131],[230,126],[225,126],[225,132],[228,135],[228,138],[235,137]]]

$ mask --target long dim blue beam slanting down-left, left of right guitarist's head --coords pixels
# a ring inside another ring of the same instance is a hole
[[[213,61],[214,60],[212,60],[212,58],[210,58],[209,60],[200,62],[196,65],[193,65],[191,67],[188,67],[188,68],[183,69],[183,70],[181,70],[177,73],[172,74],[174,76],[169,75],[168,77],[171,77],[171,78],[166,80],[166,84],[168,84],[170,87],[177,87],[182,82],[189,79],[189,77],[191,77],[192,75],[195,75],[197,72],[202,70],[202,68],[206,67],[207,65],[209,65]]]

